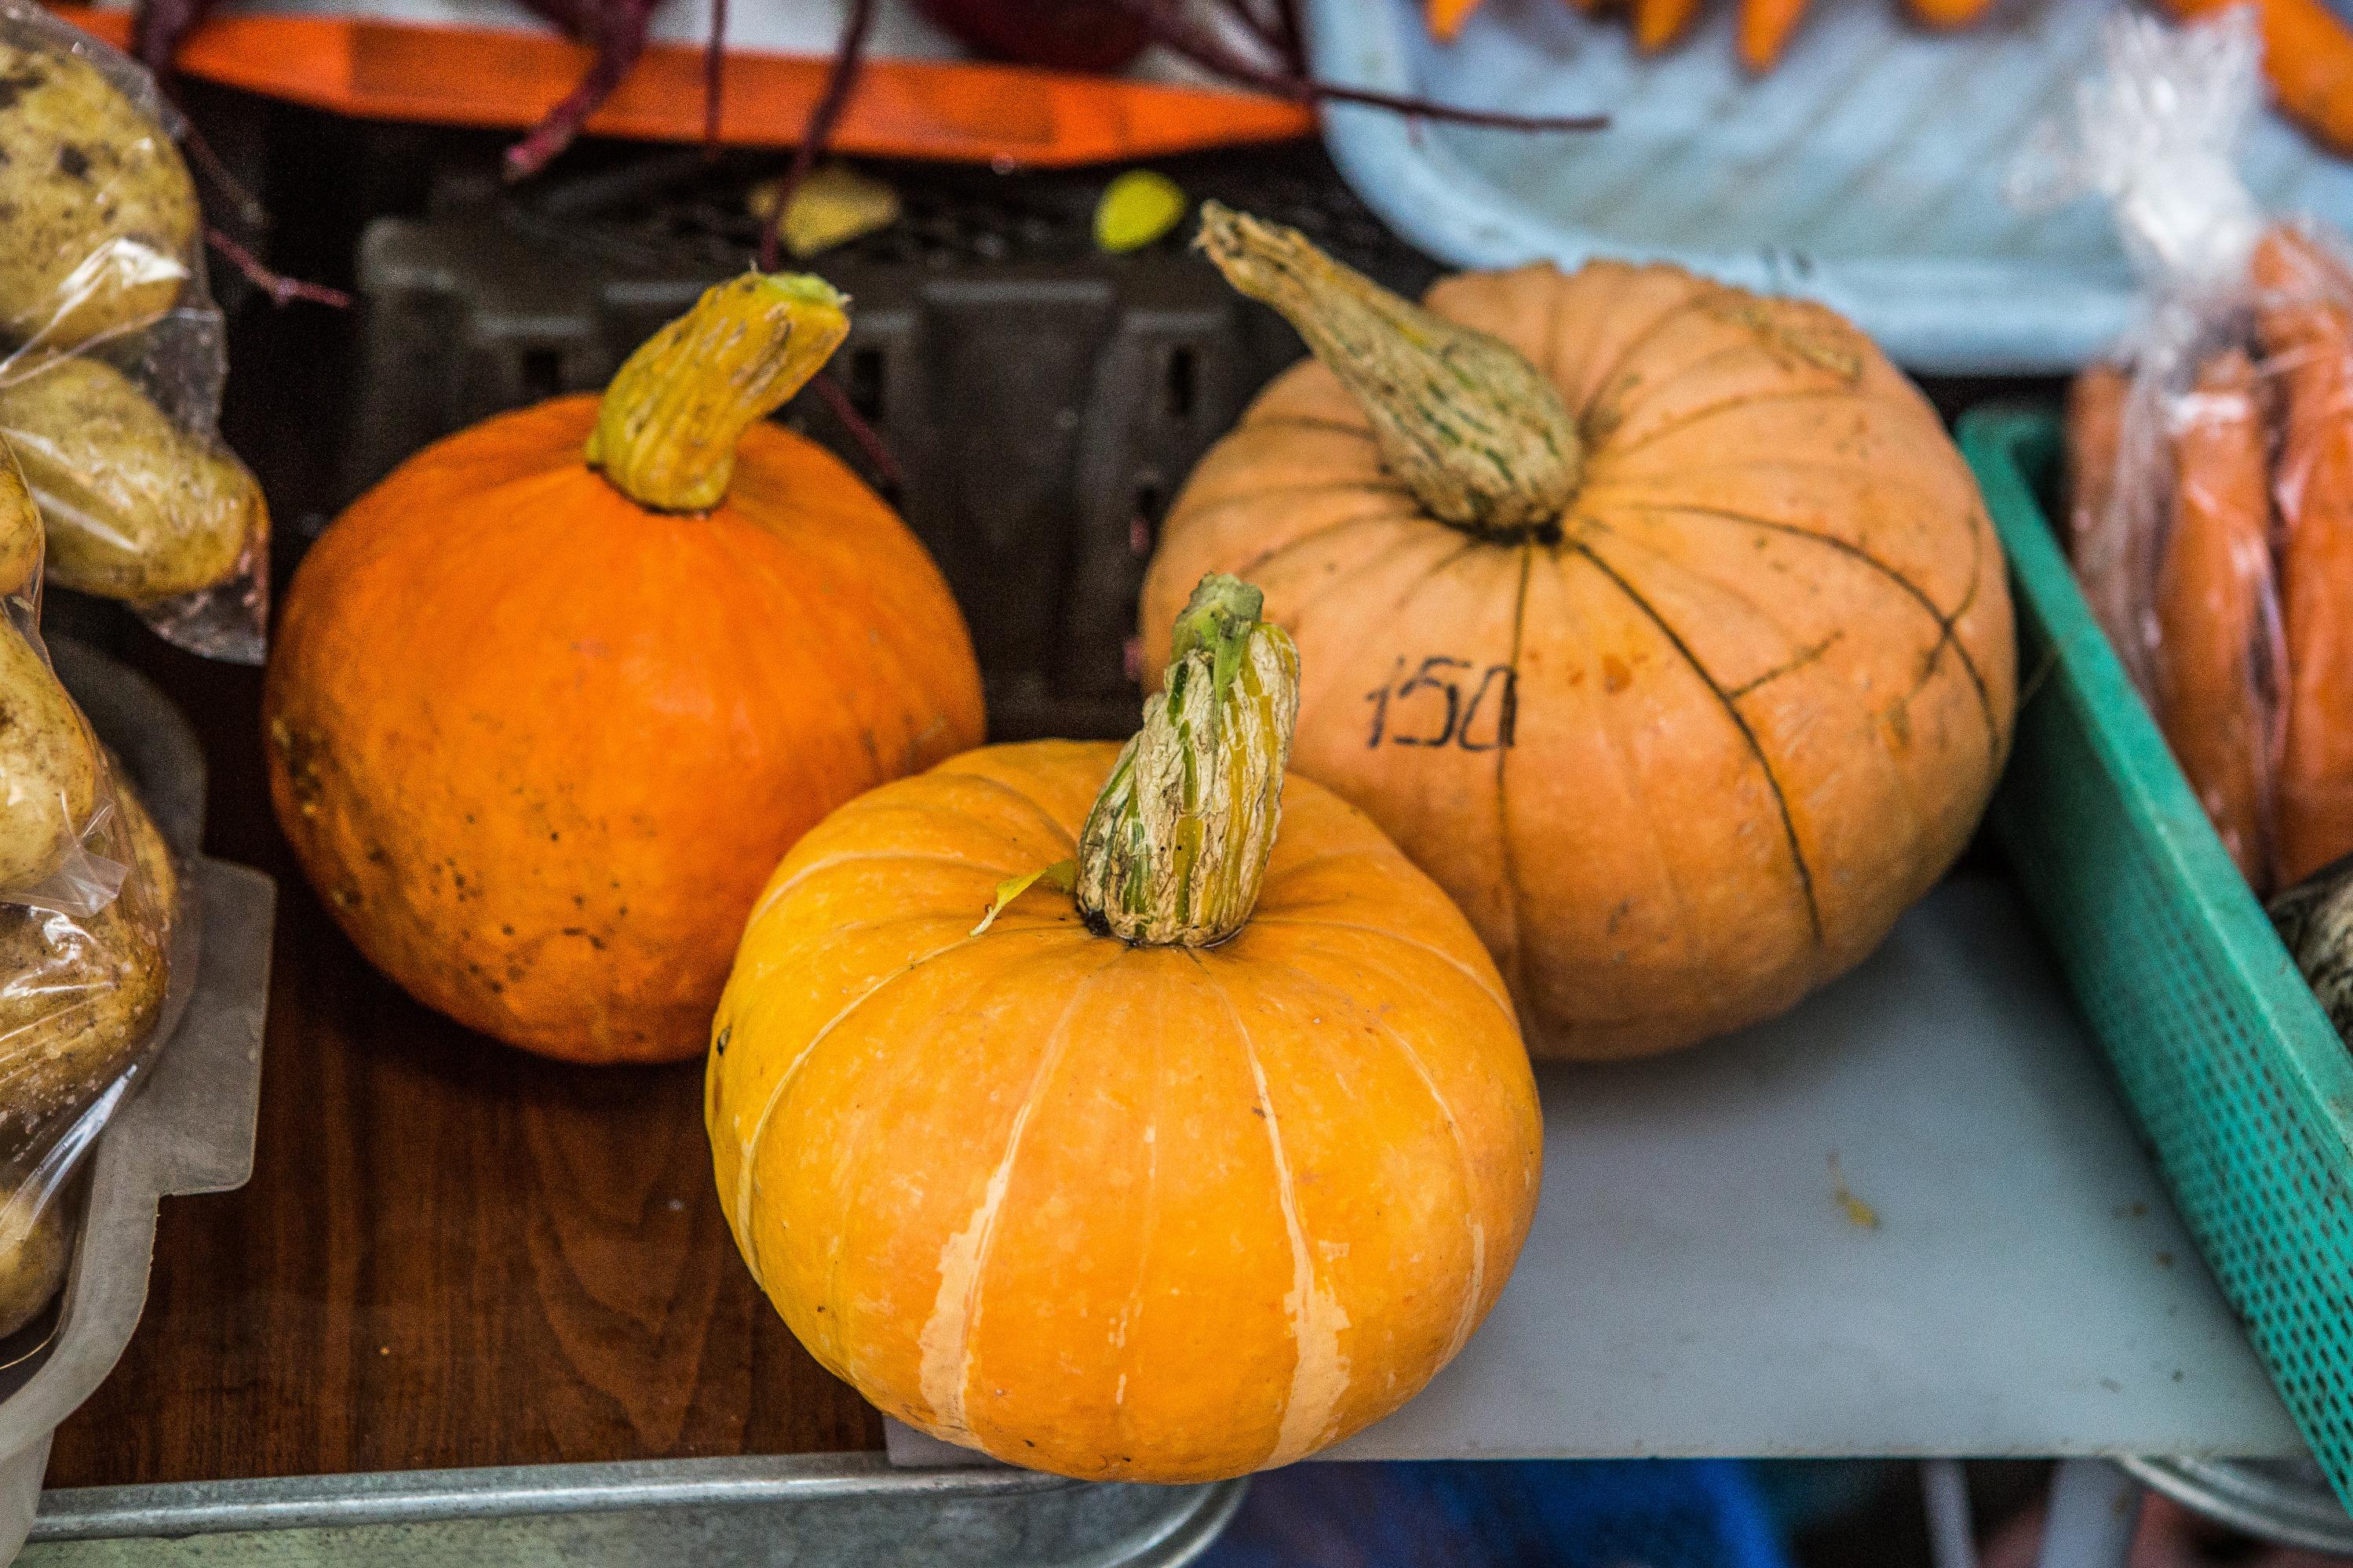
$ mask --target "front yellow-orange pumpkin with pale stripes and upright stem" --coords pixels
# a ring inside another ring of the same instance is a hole
[[[1127,750],[955,757],[760,896],[720,1199],[882,1410],[1068,1476],[1231,1476],[1395,1410],[1504,1288],[1541,1157],[1504,983],[1379,827],[1285,785],[1297,670],[1209,581]]]

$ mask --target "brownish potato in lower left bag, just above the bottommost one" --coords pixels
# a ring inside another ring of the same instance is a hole
[[[122,1072],[162,1013],[179,879],[118,776],[92,853],[132,867],[96,914],[0,905],[0,1124],[33,1128]]]

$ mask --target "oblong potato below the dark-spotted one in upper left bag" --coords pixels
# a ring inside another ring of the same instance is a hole
[[[108,599],[169,599],[238,571],[268,527],[261,487],[165,418],[122,371],[52,360],[0,386],[0,435],[49,531],[49,576]]]

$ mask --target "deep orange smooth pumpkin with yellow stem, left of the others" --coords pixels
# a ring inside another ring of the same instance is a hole
[[[932,559],[762,418],[840,343],[842,303],[814,277],[722,284],[602,402],[428,447],[304,559],[264,696],[271,797],[416,999],[548,1056],[696,1056],[793,839],[979,743]]]

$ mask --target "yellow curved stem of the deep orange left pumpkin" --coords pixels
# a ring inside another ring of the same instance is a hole
[[[805,273],[744,273],[649,336],[605,388],[588,465],[656,512],[727,498],[734,449],[849,334],[849,296]]]

